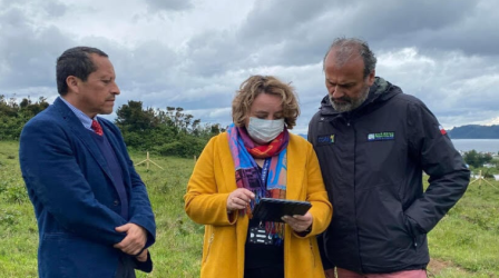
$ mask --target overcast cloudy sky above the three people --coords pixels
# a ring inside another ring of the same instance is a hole
[[[239,85],[273,75],[295,87],[294,132],[306,133],[326,95],[325,51],[359,37],[376,76],[444,128],[499,125],[498,16],[497,0],[0,0],[0,95],[52,102],[57,57],[90,46],[115,66],[118,106],[182,107],[225,126]]]

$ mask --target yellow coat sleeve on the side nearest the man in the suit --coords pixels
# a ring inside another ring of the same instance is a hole
[[[229,192],[218,190],[214,168],[217,138],[209,140],[194,167],[184,196],[185,211],[197,224],[226,226],[235,224],[238,214],[235,211],[227,215]]]

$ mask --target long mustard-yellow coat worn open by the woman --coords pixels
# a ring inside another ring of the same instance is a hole
[[[227,197],[237,189],[235,169],[223,132],[208,142],[197,161],[184,196],[185,211],[196,222],[206,225],[202,278],[243,278],[244,246],[248,218],[237,212],[227,215]],[[333,209],[312,146],[290,133],[287,146],[286,198],[312,203],[312,231],[305,237],[284,231],[284,271],[286,278],[324,277],[315,236],[331,221]]]

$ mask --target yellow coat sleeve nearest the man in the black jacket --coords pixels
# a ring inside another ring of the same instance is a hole
[[[305,236],[316,236],[323,232],[331,222],[333,216],[333,207],[327,199],[327,191],[325,190],[324,182],[322,180],[321,168],[319,167],[317,156],[312,148],[312,145],[307,145],[307,161],[306,161],[306,200],[312,203],[310,214],[313,217],[312,230]],[[300,234],[296,234],[301,236]]]

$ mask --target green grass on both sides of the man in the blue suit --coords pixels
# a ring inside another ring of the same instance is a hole
[[[146,153],[130,153],[141,161]],[[137,277],[199,277],[204,227],[184,212],[183,196],[194,159],[150,157],[137,166],[156,215],[156,244],[150,248],[154,270]],[[0,141],[0,277],[38,277],[38,229],[19,169],[18,143]]]

